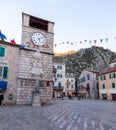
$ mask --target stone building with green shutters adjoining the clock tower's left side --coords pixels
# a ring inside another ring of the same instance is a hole
[[[19,45],[0,41],[0,91],[4,94],[4,104],[15,104],[17,100],[19,51]],[[5,77],[4,67],[7,68]]]

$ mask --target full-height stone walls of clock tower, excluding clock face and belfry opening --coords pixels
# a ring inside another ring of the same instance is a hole
[[[31,16],[33,17],[33,16]],[[37,18],[38,19],[38,18]],[[30,26],[30,15],[22,14],[22,45],[26,46],[25,49],[20,49],[19,59],[19,77],[18,77],[18,93],[17,93],[17,104],[32,104],[32,93],[35,89],[35,81],[37,75],[31,73],[33,63],[35,62],[35,52],[37,46],[32,43],[32,35],[35,32],[41,32],[46,42],[44,46],[39,46],[41,53],[41,62],[43,67],[43,76],[40,80],[40,99],[41,103],[46,102],[47,104],[52,102],[53,95],[53,40],[54,23],[48,22],[48,29],[41,29],[39,27]],[[45,22],[46,20],[42,20]],[[41,21],[41,22],[42,22]],[[40,25],[41,26],[41,25]],[[39,62],[38,62],[39,63]],[[23,83],[22,83],[23,82]]]

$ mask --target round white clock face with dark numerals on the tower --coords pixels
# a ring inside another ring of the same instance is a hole
[[[40,33],[40,32],[36,32],[32,34],[32,42],[36,45],[36,46],[41,46],[44,45],[46,42],[45,36]]]

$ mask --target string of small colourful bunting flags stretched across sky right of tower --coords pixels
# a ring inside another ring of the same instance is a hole
[[[116,39],[116,37],[114,37],[114,38]],[[74,45],[74,44],[83,44],[83,43],[97,44],[97,42],[102,43],[103,41],[108,42],[109,38],[105,38],[105,39],[101,38],[99,40],[83,40],[83,41],[79,41],[79,42],[69,42],[69,41],[67,41],[67,42],[60,42],[58,44],[54,44],[54,46],[57,47],[57,45],[62,45],[62,44],[66,44],[66,45],[67,44],[71,44],[71,45]]]

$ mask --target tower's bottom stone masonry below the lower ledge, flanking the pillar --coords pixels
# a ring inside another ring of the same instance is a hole
[[[42,81],[43,86],[40,86],[40,101],[42,103],[51,104],[53,87],[47,86],[49,82],[52,81]],[[35,80],[32,79],[18,79],[18,89],[17,89],[17,104],[32,104],[32,93],[34,91]],[[41,85],[41,82],[40,82]]]

